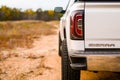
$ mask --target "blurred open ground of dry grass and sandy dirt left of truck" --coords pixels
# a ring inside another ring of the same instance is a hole
[[[60,80],[58,24],[56,20],[0,22],[0,80]]]

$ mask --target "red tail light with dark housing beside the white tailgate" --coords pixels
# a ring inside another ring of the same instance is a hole
[[[75,11],[72,13],[70,18],[70,34],[71,39],[73,40],[82,40],[84,39],[84,15],[83,11]]]

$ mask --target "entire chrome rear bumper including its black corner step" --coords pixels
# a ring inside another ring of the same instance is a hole
[[[97,52],[96,52],[97,53]],[[73,69],[120,72],[120,54],[69,54]]]

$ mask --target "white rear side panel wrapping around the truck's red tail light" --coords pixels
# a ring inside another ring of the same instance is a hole
[[[84,3],[74,3],[68,7],[68,10],[66,12],[66,18],[65,18],[65,30],[66,30],[66,38],[67,38],[67,47],[68,47],[68,52],[70,53],[71,50],[84,50],[85,45],[84,45],[84,40],[71,40],[70,39],[70,16],[73,11],[76,10],[84,10]]]

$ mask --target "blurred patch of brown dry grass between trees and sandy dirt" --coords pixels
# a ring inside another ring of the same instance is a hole
[[[0,22],[0,50],[32,47],[33,39],[54,34],[52,25],[44,21]]]

